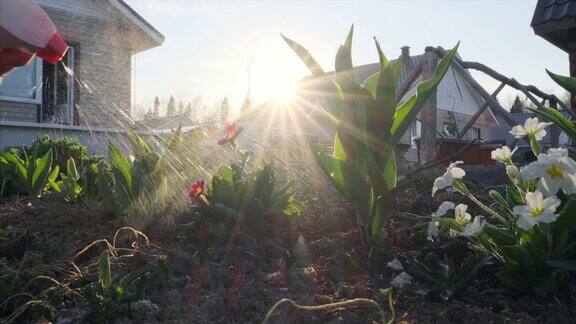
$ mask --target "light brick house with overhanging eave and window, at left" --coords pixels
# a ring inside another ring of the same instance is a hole
[[[34,58],[0,84],[0,149],[41,133],[94,137],[130,127],[133,55],[164,36],[123,0],[37,2],[70,49],[62,63]]]

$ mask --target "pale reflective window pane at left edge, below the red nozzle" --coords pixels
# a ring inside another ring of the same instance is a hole
[[[33,58],[28,64],[15,68],[0,84],[0,100],[42,103],[41,75],[42,64],[39,58]]]

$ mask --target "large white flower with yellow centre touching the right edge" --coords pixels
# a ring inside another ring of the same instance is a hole
[[[539,154],[538,160],[520,171],[524,180],[538,179],[538,190],[556,195],[562,189],[566,194],[576,193],[576,162],[566,149],[550,149]]]

